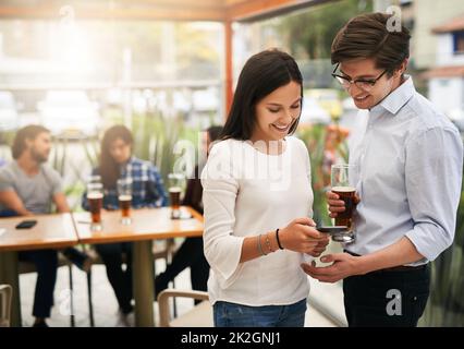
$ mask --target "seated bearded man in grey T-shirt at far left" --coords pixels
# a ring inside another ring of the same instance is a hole
[[[45,165],[51,149],[50,132],[40,125],[21,129],[14,139],[13,161],[0,168],[0,216],[34,216],[57,212],[69,213],[70,207],[61,188],[60,174]],[[90,258],[75,249],[63,254],[81,269],[88,270]],[[58,254],[56,250],[21,252],[20,261],[35,264],[37,282],[34,296],[34,327],[47,327],[53,305]]]

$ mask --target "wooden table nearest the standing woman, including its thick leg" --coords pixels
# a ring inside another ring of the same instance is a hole
[[[119,210],[102,213],[102,229],[90,230],[89,213],[73,214],[78,240],[82,243],[112,243],[134,241],[133,287],[135,300],[136,326],[155,326],[155,270],[151,240],[179,237],[200,237],[203,216],[191,207],[182,207],[191,213],[190,219],[171,219],[171,209],[142,208],[132,209],[132,224],[120,222]]]

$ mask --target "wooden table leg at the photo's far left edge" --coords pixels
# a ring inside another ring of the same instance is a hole
[[[20,277],[17,273],[17,252],[0,253],[0,284],[13,288],[13,304],[11,306],[11,326],[21,327]]]

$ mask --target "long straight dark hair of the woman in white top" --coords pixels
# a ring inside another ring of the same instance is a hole
[[[249,140],[256,123],[256,105],[277,88],[291,82],[301,85],[303,103],[303,76],[290,55],[271,49],[252,56],[239,76],[221,139]],[[295,131],[298,120],[300,116],[290,128],[289,134]]]

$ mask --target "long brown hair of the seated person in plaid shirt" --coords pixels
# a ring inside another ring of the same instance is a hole
[[[134,144],[131,131],[122,124],[111,127],[105,132],[103,139],[101,140],[98,173],[101,176],[101,182],[106,189],[115,188],[115,183],[121,176],[120,165],[114,161],[110,154],[111,143],[117,140],[122,140],[129,145]]]

